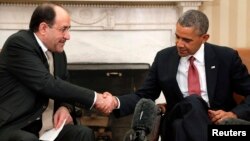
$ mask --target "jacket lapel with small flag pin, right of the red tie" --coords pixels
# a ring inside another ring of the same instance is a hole
[[[216,87],[219,63],[214,53],[213,47],[210,44],[205,44],[205,70],[207,80],[207,93],[211,104]]]

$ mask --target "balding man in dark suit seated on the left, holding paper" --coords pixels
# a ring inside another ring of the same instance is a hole
[[[102,103],[112,99],[66,81],[63,49],[70,39],[68,12],[58,5],[40,5],[33,12],[29,27],[30,30],[11,35],[0,53],[0,140],[38,141],[42,113],[49,99],[54,100],[52,126],[58,128],[66,120],[56,141],[94,140],[90,128],[72,124],[72,105],[107,109]],[[52,73],[46,51],[53,54]]]

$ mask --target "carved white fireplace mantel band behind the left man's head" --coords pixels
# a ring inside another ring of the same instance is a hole
[[[36,4],[0,4],[0,29],[27,29],[35,7]],[[64,5],[64,7],[71,14],[72,30],[160,30],[173,28],[172,25],[176,20],[174,11],[177,6],[168,4],[161,6]]]

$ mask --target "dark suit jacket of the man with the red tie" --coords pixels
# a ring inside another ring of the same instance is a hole
[[[250,120],[250,76],[238,53],[228,47],[205,43],[205,71],[207,92],[211,109],[234,112],[239,118]],[[116,116],[133,113],[142,97],[155,100],[162,91],[167,101],[167,111],[183,99],[176,74],[180,57],[175,46],[159,51],[149,74],[135,94],[118,97],[121,105]],[[247,96],[246,101],[236,105],[233,92]]]

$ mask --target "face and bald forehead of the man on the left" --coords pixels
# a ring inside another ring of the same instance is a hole
[[[63,52],[64,45],[70,39],[70,17],[60,7],[55,7],[55,23],[48,26],[44,44],[52,52]]]

